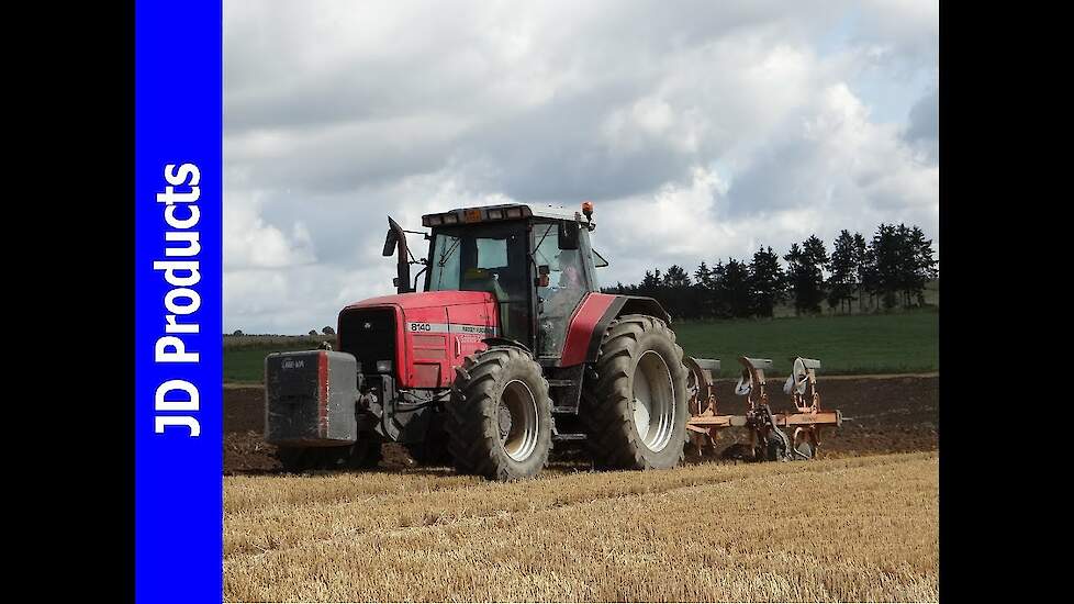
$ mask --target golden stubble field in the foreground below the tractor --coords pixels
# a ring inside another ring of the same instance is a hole
[[[551,471],[238,476],[228,601],[936,601],[937,452]]]

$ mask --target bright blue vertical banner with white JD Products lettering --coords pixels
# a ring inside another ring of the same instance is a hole
[[[135,7],[135,593],[223,599],[220,0]]]

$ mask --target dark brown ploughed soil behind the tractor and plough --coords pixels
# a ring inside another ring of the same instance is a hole
[[[939,448],[939,376],[871,376],[818,378],[821,407],[842,411],[843,423],[824,435],[819,457],[847,457],[872,454],[935,450]],[[771,379],[769,399],[775,412],[788,411],[783,379]],[[742,414],[746,399],[735,394],[732,380],[716,383],[720,413]],[[275,447],[262,438],[265,391],[261,387],[224,389],[224,473],[280,471]],[[717,450],[743,439],[735,428],[724,430]],[[560,447],[562,448],[562,447]],[[415,463],[400,445],[384,445],[385,469],[403,469]],[[561,456],[566,463],[569,452]],[[555,459],[555,458],[553,458]],[[691,458],[696,460],[697,458]]]

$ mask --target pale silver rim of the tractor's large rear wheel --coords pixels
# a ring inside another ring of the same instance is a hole
[[[671,440],[675,415],[675,387],[671,370],[659,354],[647,350],[634,370],[634,426],[651,451]]]

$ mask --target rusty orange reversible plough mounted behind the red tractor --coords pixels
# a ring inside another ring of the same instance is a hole
[[[794,359],[791,376],[783,385],[783,392],[790,395],[792,409],[776,413],[772,411],[764,390],[764,371],[772,369],[772,360],[739,357],[742,374],[735,385],[735,393],[746,396],[746,415],[726,415],[718,411],[713,373],[719,371],[719,360],[693,357],[684,357],[683,360],[690,370],[686,385],[691,417],[686,429],[703,455],[716,448],[715,437],[719,430],[745,428],[749,440],[731,445],[721,457],[748,461],[812,459],[820,447],[821,430],[842,424],[839,410],[820,406],[816,373],[820,368],[819,360]],[[787,436],[784,428],[794,428],[792,435]]]

